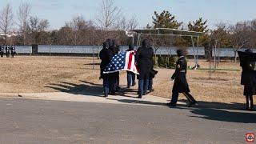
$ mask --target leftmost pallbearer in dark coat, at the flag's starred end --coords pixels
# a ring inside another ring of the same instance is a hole
[[[100,78],[103,79],[103,90],[104,90],[104,96],[107,97],[110,93],[110,74],[103,74],[103,71],[105,70],[106,66],[110,63],[112,58],[112,52],[109,50],[109,44],[108,42],[103,43],[103,49],[99,53],[99,57],[101,58],[101,76]]]

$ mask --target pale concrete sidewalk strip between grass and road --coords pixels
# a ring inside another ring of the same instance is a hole
[[[81,92],[80,92],[81,93]],[[88,92],[87,92],[88,93]],[[42,99],[54,101],[68,101],[68,102],[96,102],[96,103],[110,103],[110,104],[130,104],[130,105],[147,105],[147,106],[166,106],[170,99],[152,96],[150,94],[144,96],[142,99],[137,98],[137,94],[122,94],[109,95],[104,98],[102,94],[71,94],[67,92],[50,92],[50,93],[20,93],[0,94],[6,98],[28,98],[28,99]],[[186,104],[178,102],[179,104]]]

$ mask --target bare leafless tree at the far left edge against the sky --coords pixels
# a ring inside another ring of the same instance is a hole
[[[0,30],[4,34],[4,43],[6,44],[7,34],[10,32],[14,22],[14,14],[10,4],[7,4],[0,13]]]

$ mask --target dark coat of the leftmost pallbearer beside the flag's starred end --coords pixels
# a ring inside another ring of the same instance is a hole
[[[101,78],[108,78],[109,74],[103,74],[106,66],[110,63],[111,58],[113,57],[113,53],[109,49],[102,49],[99,53],[99,57],[101,58]]]

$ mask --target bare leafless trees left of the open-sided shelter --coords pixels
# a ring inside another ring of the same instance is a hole
[[[17,18],[14,19],[14,11],[9,4],[2,8],[0,43],[98,45],[106,38],[115,38],[121,45],[126,45],[129,38],[126,37],[125,31],[138,26],[136,16],[126,18],[121,9],[115,5],[114,0],[102,0],[95,22],[78,15],[66,22],[59,30],[49,30],[48,20],[32,16],[31,9],[29,3],[22,3],[17,10]],[[18,27],[17,35],[13,34],[14,27]]]

